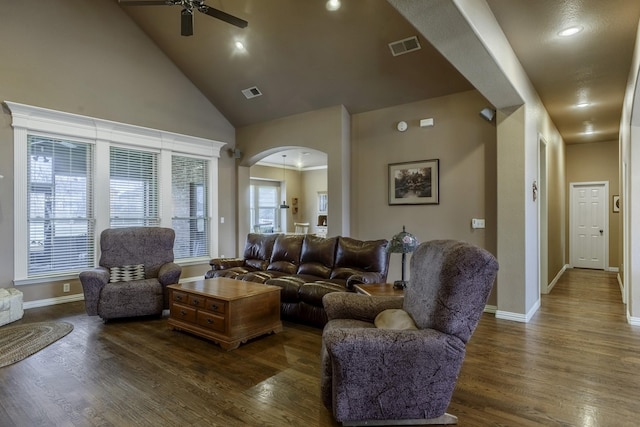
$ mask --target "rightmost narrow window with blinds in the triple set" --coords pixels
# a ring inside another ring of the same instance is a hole
[[[208,163],[203,159],[172,157],[172,224],[176,232],[173,252],[176,258],[209,255]]]

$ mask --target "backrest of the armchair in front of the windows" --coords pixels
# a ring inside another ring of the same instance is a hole
[[[100,234],[100,262],[106,268],[144,264],[147,278],[173,262],[175,232],[164,227],[108,228]]]

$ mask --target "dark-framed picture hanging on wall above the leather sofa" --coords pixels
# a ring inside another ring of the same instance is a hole
[[[389,163],[389,205],[440,204],[440,160]]]

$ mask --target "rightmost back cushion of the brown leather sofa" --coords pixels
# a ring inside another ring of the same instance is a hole
[[[387,243],[381,240],[356,240],[350,237],[338,237],[336,260],[332,279],[347,279],[358,272],[381,273],[387,277],[389,254]]]

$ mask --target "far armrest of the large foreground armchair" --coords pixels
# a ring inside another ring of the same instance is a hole
[[[350,292],[332,292],[322,297],[327,318],[356,319],[373,323],[381,312],[389,308],[402,308],[404,298],[369,296]]]

